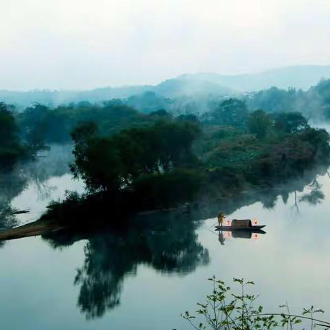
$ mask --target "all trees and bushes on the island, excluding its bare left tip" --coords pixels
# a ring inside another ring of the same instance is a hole
[[[245,113],[241,101],[223,103],[220,113],[235,106],[233,113]],[[228,122],[227,111],[224,117]],[[221,115],[214,114],[205,122],[162,111],[157,118],[109,136],[93,123],[78,126],[72,133],[75,177],[89,192],[105,192],[116,203],[124,195],[129,208],[144,210],[285,181],[329,157],[328,133],[312,129],[300,113],[235,114],[231,126],[219,125]]]

